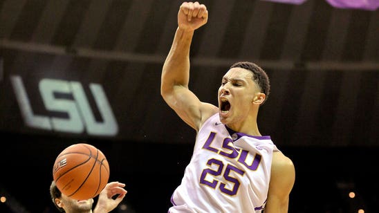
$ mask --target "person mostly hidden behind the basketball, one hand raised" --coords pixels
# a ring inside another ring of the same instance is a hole
[[[54,205],[61,212],[66,213],[75,213],[75,212],[93,212],[93,213],[103,213],[103,212],[111,212],[111,210],[115,209],[118,204],[122,201],[122,199],[127,194],[127,190],[125,190],[124,183],[119,182],[111,182],[107,183],[107,185],[102,189],[98,196],[98,204],[95,206],[95,209],[92,211],[93,198],[77,201],[73,198],[69,198],[68,196],[62,194],[57,185],[55,185],[55,181],[53,180],[50,185],[50,196],[53,200]],[[113,196],[118,195],[113,199]]]

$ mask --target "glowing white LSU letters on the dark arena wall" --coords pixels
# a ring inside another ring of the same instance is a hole
[[[95,120],[89,101],[80,82],[44,78],[39,81],[39,93],[48,111],[66,113],[68,118],[37,115],[30,105],[28,93],[19,75],[10,77],[17,102],[26,126],[66,133],[83,133],[92,136],[115,136],[118,124],[107,96],[100,84],[89,84],[89,89],[98,107],[102,122]],[[73,96],[73,100],[56,98],[55,93]]]

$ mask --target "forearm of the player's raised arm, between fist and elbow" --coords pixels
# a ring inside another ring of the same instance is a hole
[[[163,64],[161,91],[170,91],[176,85],[188,86],[190,77],[190,46],[194,31],[176,29],[174,41]]]

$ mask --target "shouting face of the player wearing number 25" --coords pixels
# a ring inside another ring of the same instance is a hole
[[[219,115],[224,124],[243,122],[253,110],[252,102],[259,87],[252,80],[252,72],[244,68],[231,68],[225,73],[219,88]]]

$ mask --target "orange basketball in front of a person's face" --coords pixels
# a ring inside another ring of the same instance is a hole
[[[102,151],[93,145],[71,145],[55,159],[53,180],[62,194],[70,198],[94,198],[108,183],[109,163]]]

